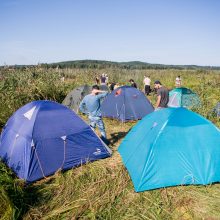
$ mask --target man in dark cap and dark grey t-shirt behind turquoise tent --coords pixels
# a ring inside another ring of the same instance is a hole
[[[161,108],[167,108],[169,102],[169,91],[165,88],[159,80],[154,82],[154,88],[157,90],[157,102],[155,105],[155,110]]]

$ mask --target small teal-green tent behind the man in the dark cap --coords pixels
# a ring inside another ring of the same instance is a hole
[[[199,96],[187,88],[176,88],[169,92],[169,107],[198,108]]]

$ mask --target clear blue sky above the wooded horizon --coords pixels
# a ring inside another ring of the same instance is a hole
[[[0,65],[220,66],[219,0],[0,0]]]

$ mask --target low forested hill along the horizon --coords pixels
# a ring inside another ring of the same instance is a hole
[[[165,65],[165,64],[151,64],[140,61],[130,62],[112,62],[104,60],[75,60],[64,61],[57,63],[41,63],[41,67],[45,68],[91,68],[91,69],[105,69],[105,68],[121,68],[121,69],[202,69],[202,70],[220,70],[220,66],[197,66],[197,65]],[[35,67],[34,65],[14,65],[12,68]]]

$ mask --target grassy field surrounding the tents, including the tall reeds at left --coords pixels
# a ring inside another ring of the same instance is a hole
[[[220,127],[220,119],[211,115],[212,108],[220,101],[220,71],[217,70],[55,70],[32,67],[0,71],[1,127],[22,105],[38,99],[61,103],[73,88],[94,84],[95,75],[103,72],[109,75],[109,81],[121,85],[128,84],[128,80],[133,78],[141,89],[144,75],[149,75],[152,82],[160,79],[169,89],[174,87],[175,77],[181,75],[183,85],[201,98],[202,106],[194,110]],[[65,75],[64,82],[60,80],[62,75]],[[154,104],[156,96],[151,94],[150,100]],[[113,150],[111,158],[58,172],[32,185],[25,185],[0,163],[0,218],[220,219],[218,183],[135,193],[117,148],[136,122],[104,121]]]

